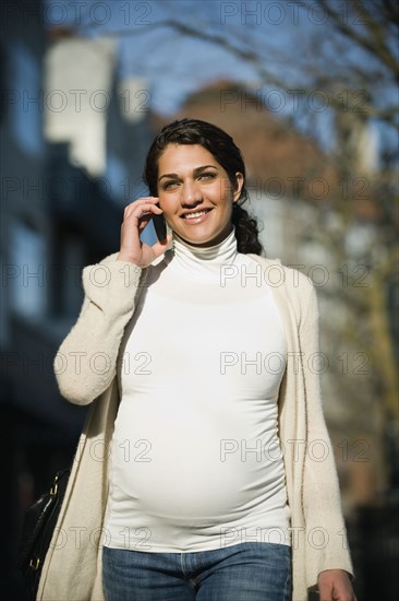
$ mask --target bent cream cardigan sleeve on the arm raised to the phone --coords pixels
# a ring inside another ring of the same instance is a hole
[[[90,403],[111,384],[124,328],[143,283],[145,270],[116,257],[84,268],[82,309],[55,358],[60,392],[75,404]]]

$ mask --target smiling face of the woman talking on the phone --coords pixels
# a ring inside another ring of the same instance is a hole
[[[195,246],[213,246],[231,232],[233,202],[244,178],[227,172],[200,144],[169,144],[159,158],[159,205],[173,232]]]

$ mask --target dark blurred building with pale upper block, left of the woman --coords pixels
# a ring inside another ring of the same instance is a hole
[[[0,596],[24,509],[70,463],[86,410],[58,391],[52,362],[76,320],[81,271],[119,248],[150,140],[144,82],[117,83],[112,40],[46,26],[39,0],[1,4]],[[121,90],[118,86],[123,86]]]

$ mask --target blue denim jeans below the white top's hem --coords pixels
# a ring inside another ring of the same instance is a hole
[[[245,542],[213,551],[104,547],[107,601],[290,601],[291,547]]]

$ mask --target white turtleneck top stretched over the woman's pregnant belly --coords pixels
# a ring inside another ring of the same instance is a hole
[[[118,361],[106,546],[290,544],[278,390],[287,343],[261,266],[234,232],[176,234],[148,268]]]

